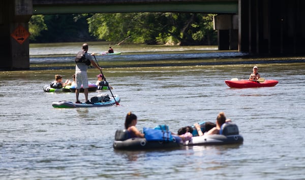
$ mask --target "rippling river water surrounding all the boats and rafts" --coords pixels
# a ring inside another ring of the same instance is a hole
[[[216,47],[114,46],[121,55],[96,57],[107,65],[103,73],[121,105],[54,109],[52,101],[74,101],[75,94],[46,93],[42,87],[55,74],[71,78],[72,65],[54,64],[73,62],[79,46],[31,45],[31,70],[0,72],[0,179],[304,179],[302,57],[283,61],[249,59]],[[89,51],[107,46],[89,44]],[[254,65],[261,77],[279,84],[226,86],[225,80],[247,79]],[[89,81],[94,83],[98,74],[89,69]],[[89,98],[99,93],[109,91],[89,93]],[[140,130],[167,124],[173,132],[195,122],[215,122],[223,111],[244,142],[115,151],[115,130],[124,128],[129,111],[138,116]]]

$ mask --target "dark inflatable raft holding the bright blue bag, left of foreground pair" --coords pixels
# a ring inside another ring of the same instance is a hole
[[[116,130],[113,148],[115,150],[151,150],[182,147],[183,143],[179,136],[172,135],[172,141],[148,141],[146,138],[129,138],[127,130]]]

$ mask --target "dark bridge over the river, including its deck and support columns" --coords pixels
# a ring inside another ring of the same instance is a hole
[[[0,2],[1,69],[28,69],[28,21],[33,14],[216,13],[219,49],[251,54],[302,54],[302,0],[3,0]]]

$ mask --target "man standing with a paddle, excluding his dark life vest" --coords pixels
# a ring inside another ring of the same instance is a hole
[[[87,53],[88,51],[88,44],[82,45],[82,50],[84,51],[85,58],[90,60],[91,64],[95,66],[97,69],[102,70],[102,67],[100,67],[95,61],[93,60],[92,56],[94,56],[94,53],[91,55]],[[75,103],[81,103],[78,99],[79,91],[81,88],[84,89],[84,95],[86,99],[86,103],[90,104],[91,102],[88,100],[88,75],[87,75],[87,69],[88,65],[86,65],[83,62],[78,62],[75,65],[75,95],[76,95],[76,102]]]

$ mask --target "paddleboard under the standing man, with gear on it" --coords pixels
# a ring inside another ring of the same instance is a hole
[[[116,102],[120,101],[120,97],[118,95],[113,95]],[[93,104],[86,104],[86,103],[75,103],[75,102],[69,102],[69,101],[58,101],[58,102],[52,102],[52,106],[55,108],[75,108],[75,107],[103,107],[108,105],[115,105],[116,102],[114,98],[111,96],[110,100],[106,102],[96,102]]]

